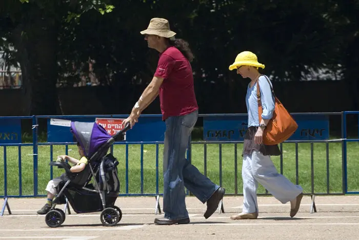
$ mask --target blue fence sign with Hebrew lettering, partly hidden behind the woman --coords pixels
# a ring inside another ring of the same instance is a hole
[[[295,115],[298,129],[288,140],[329,139],[329,117],[324,115]],[[243,141],[248,128],[247,116],[218,116],[203,118],[205,141]]]

